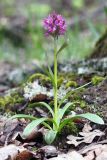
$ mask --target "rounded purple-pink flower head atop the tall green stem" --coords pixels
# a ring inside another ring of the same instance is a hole
[[[55,12],[50,14],[46,19],[43,21],[44,28],[46,30],[46,36],[53,36],[58,37],[60,35],[64,35],[66,32],[66,22],[65,19]]]

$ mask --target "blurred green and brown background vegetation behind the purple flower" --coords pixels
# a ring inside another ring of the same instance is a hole
[[[106,28],[106,0],[1,0],[0,59],[42,61],[47,51],[51,59],[51,42],[43,36],[42,20],[54,10],[63,14],[68,24],[65,38],[69,46],[61,60],[89,56]]]

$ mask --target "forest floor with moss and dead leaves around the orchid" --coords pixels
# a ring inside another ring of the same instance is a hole
[[[107,59],[66,62],[59,64],[58,70],[59,86],[65,86],[61,88],[59,97],[68,88],[73,90],[88,84],[68,98],[67,101],[73,102],[70,111],[76,114],[96,113],[104,119],[105,124],[75,121],[65,126],[52,145],[43,141],[43,126],[23,139],[22,132],[29,121],[24,118],[10,120],[11,115],[24,113],[47,117],[49,113],[46,109],[29,106],[35,102],[50,104],[53,101],[53,97],[48,97],[47,93],[33,95],[32,100],[28,101],[24,97],[24,87],[28,80],[38,82],[38,86],[44,86],[48,92],[52,86],[43,71],[34,64],[18,67],[9,62],[0,62],[0,160],[107,159]]]

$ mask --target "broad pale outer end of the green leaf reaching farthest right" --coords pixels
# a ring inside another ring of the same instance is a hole
[[[77,118],[86,118],[86,119],[88,119],[94,123],[97,123],[97,124],[104,124],[103,119],[96,114],[84,113],[84,114],[76,115],[76,117]]]

